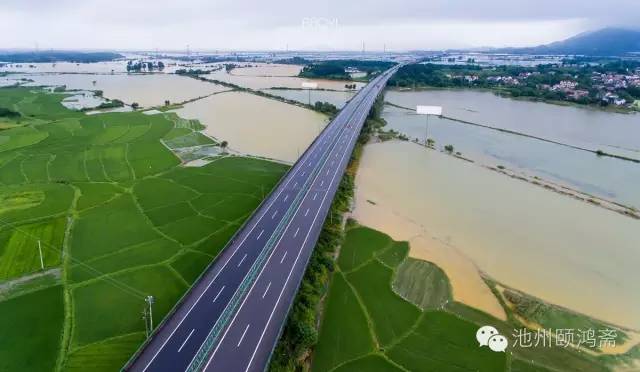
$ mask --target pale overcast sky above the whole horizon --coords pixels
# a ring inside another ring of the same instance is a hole
[[[640,0],[1,0],[0,48],[528,46],[638,27]]]

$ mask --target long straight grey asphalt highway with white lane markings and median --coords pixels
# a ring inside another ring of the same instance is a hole
[[[125,370],[266,368],[360,130],[395,71],[345,105]]]

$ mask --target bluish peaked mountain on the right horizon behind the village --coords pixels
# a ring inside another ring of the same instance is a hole
[[[512,54],[580,54],[622,56],[640,53],[640,31],[603,28],[578,34],[563,41],[530,48],[501,48],[492,52]]]

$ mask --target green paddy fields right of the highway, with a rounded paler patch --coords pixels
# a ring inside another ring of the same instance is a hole
[[[408,250],[376,230],[348,228],[312,371],[607,371],[619,362],[572,348],[480,348],[480,326],[511,335],[521,325],[455,302],[446,274]]]

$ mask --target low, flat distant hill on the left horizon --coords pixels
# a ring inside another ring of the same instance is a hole
[[[3,52],[0,51],[0,62],[36,63],[36,62],[103,62],[122,58],[112,52],[74,52],[74,51],[34,51],[34,52]]]

